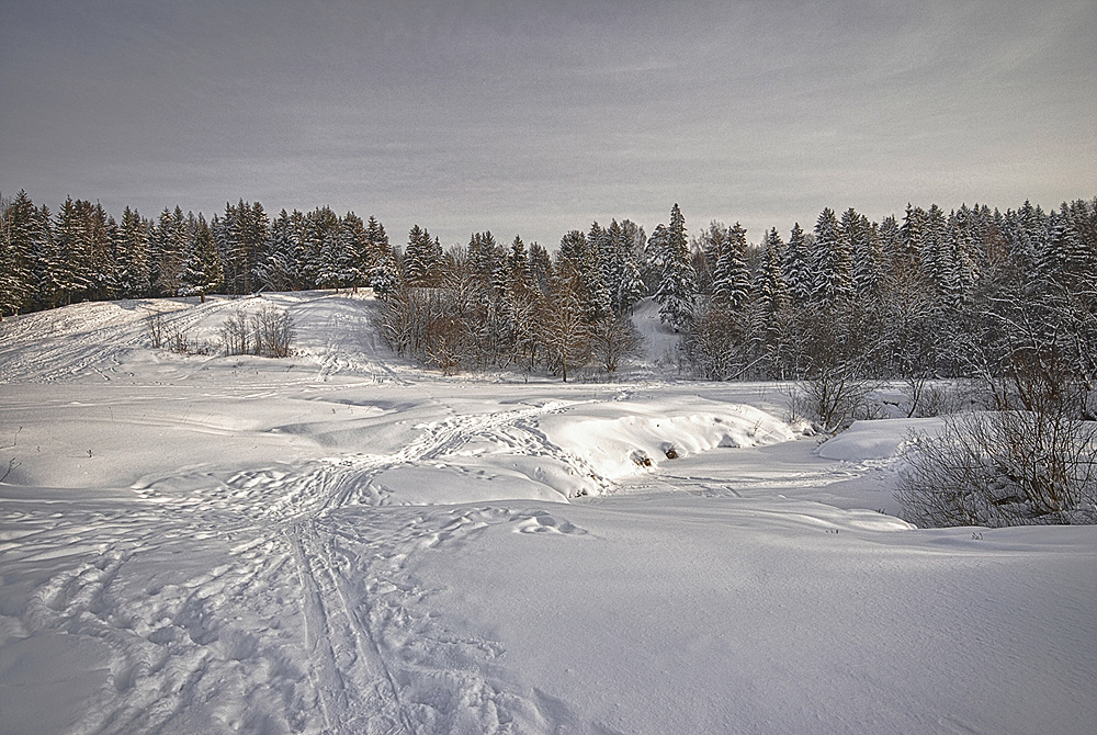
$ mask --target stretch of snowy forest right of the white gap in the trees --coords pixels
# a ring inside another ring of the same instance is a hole
[[[742,228],[714,223],[695,246],[700,297],[678,325],[685,363],[705,377],[800,378],[836,365],[970,376],[995,371],[1002,355],[987,351],[1008,349],[1004,330],[1022,325],[1049,344],[1073,341],[1064,349],[1094,374],[1093,335],[1078,329],[1097,303],[1097,200],[1050,213],[1028,202],[1005,213],[907,206],[881,223],[827,208],[788,242],[771,229],[748,248]]]

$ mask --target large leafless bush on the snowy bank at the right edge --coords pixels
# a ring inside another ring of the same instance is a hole
[[[916,439],[898,489],[908,520],[1095,523],[1097,422],[1086,420],[1092,385],[1075,340],[1026,313],[1003,324],[985,378],[994,410],[951,416],[938,438]]]

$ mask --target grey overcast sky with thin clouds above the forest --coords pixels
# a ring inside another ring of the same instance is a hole
[[[0,193],[595,219],[757,241],[824,206],[1097,195],[1097,0],[0,0]]]

